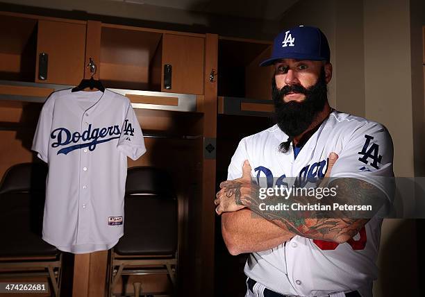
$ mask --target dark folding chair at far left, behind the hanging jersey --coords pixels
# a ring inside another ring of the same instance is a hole
[[[0,185],[0,281],[47,277],[59,296],[62,255],[41,238],[47,166],[10,167]]]

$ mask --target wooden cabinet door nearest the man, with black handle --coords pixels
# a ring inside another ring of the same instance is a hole
[[[203,94],[205,38],[164,34],[162,92]],[[172,65],[172,88],[164,88],[164,65]]]

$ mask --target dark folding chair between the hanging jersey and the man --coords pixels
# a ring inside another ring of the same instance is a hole
[[[122,275],[165,273],[175,291],[178,228],[172,179],[153,167],[128,169],[124,210],[124,236],[110,253],[110,296]],[[139,296],[140,282],[133,285]]]

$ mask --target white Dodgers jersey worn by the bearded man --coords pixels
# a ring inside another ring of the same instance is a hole
[[[358,178],[372,183],[391,198],[385,180],[392,177],[392,140],[387,130],[372,121],[333,111],[294,158],[278,151],[285,135],[277,125],[245,137],[228,167],[228,180],[242,176],[242,164],[249,160],[254,178],[260,183],[272,177],[315,182],[323,178],[327,158],[338,154],[332,177]],[[274,185],[267,185],[272,187]],[[261,185],[265,187],[265,185]],[[377,278],[375,264],[381,236],[382,219],[372,218],[360,232],[344,244],[295,236],[269,251],[251,253],[244,272],[261,285],[281,294],[328,296],[330,293],[358,290],[372,296]]]

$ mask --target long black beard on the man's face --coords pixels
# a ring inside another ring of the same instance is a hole
[[[285,85],[278,90],[276,80],[272,79],[272,98],[276,110],[276,121],[278,127],[288,135],[288,141],[281,143],[279,151],[287,153],[292,139],[303,133],[316,119],[317,114],[323,110],[328,101],[328,88],[326,85],[326,74],[322,67],[317,83],[305,88],[301,85]],[[285,103],[283,96],[290,92],[306,95],[302,102],[290,101]]]

